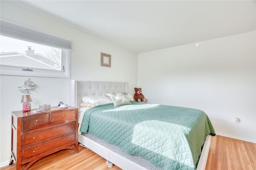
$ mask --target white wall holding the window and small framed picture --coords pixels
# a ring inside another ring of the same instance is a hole
[[[30,91],[32,109],[41,104],[56,106],[69,103],[70,80],[97,80],[128,82],[128,92],[134,94],[138,82],[138,54],[93,37],[58,21],[24,10],[8,1],[1,1],[1,19],[12,21],[57,37],[72,41],[70,58],[71,78],[41,78],[24,76],[0,76],[0,167],[11,156],[11,111],[22,109],[22,93],[18,86],[30,78],[36,84]],[[111,68],[100,66],[100,53],[112,55]]]

